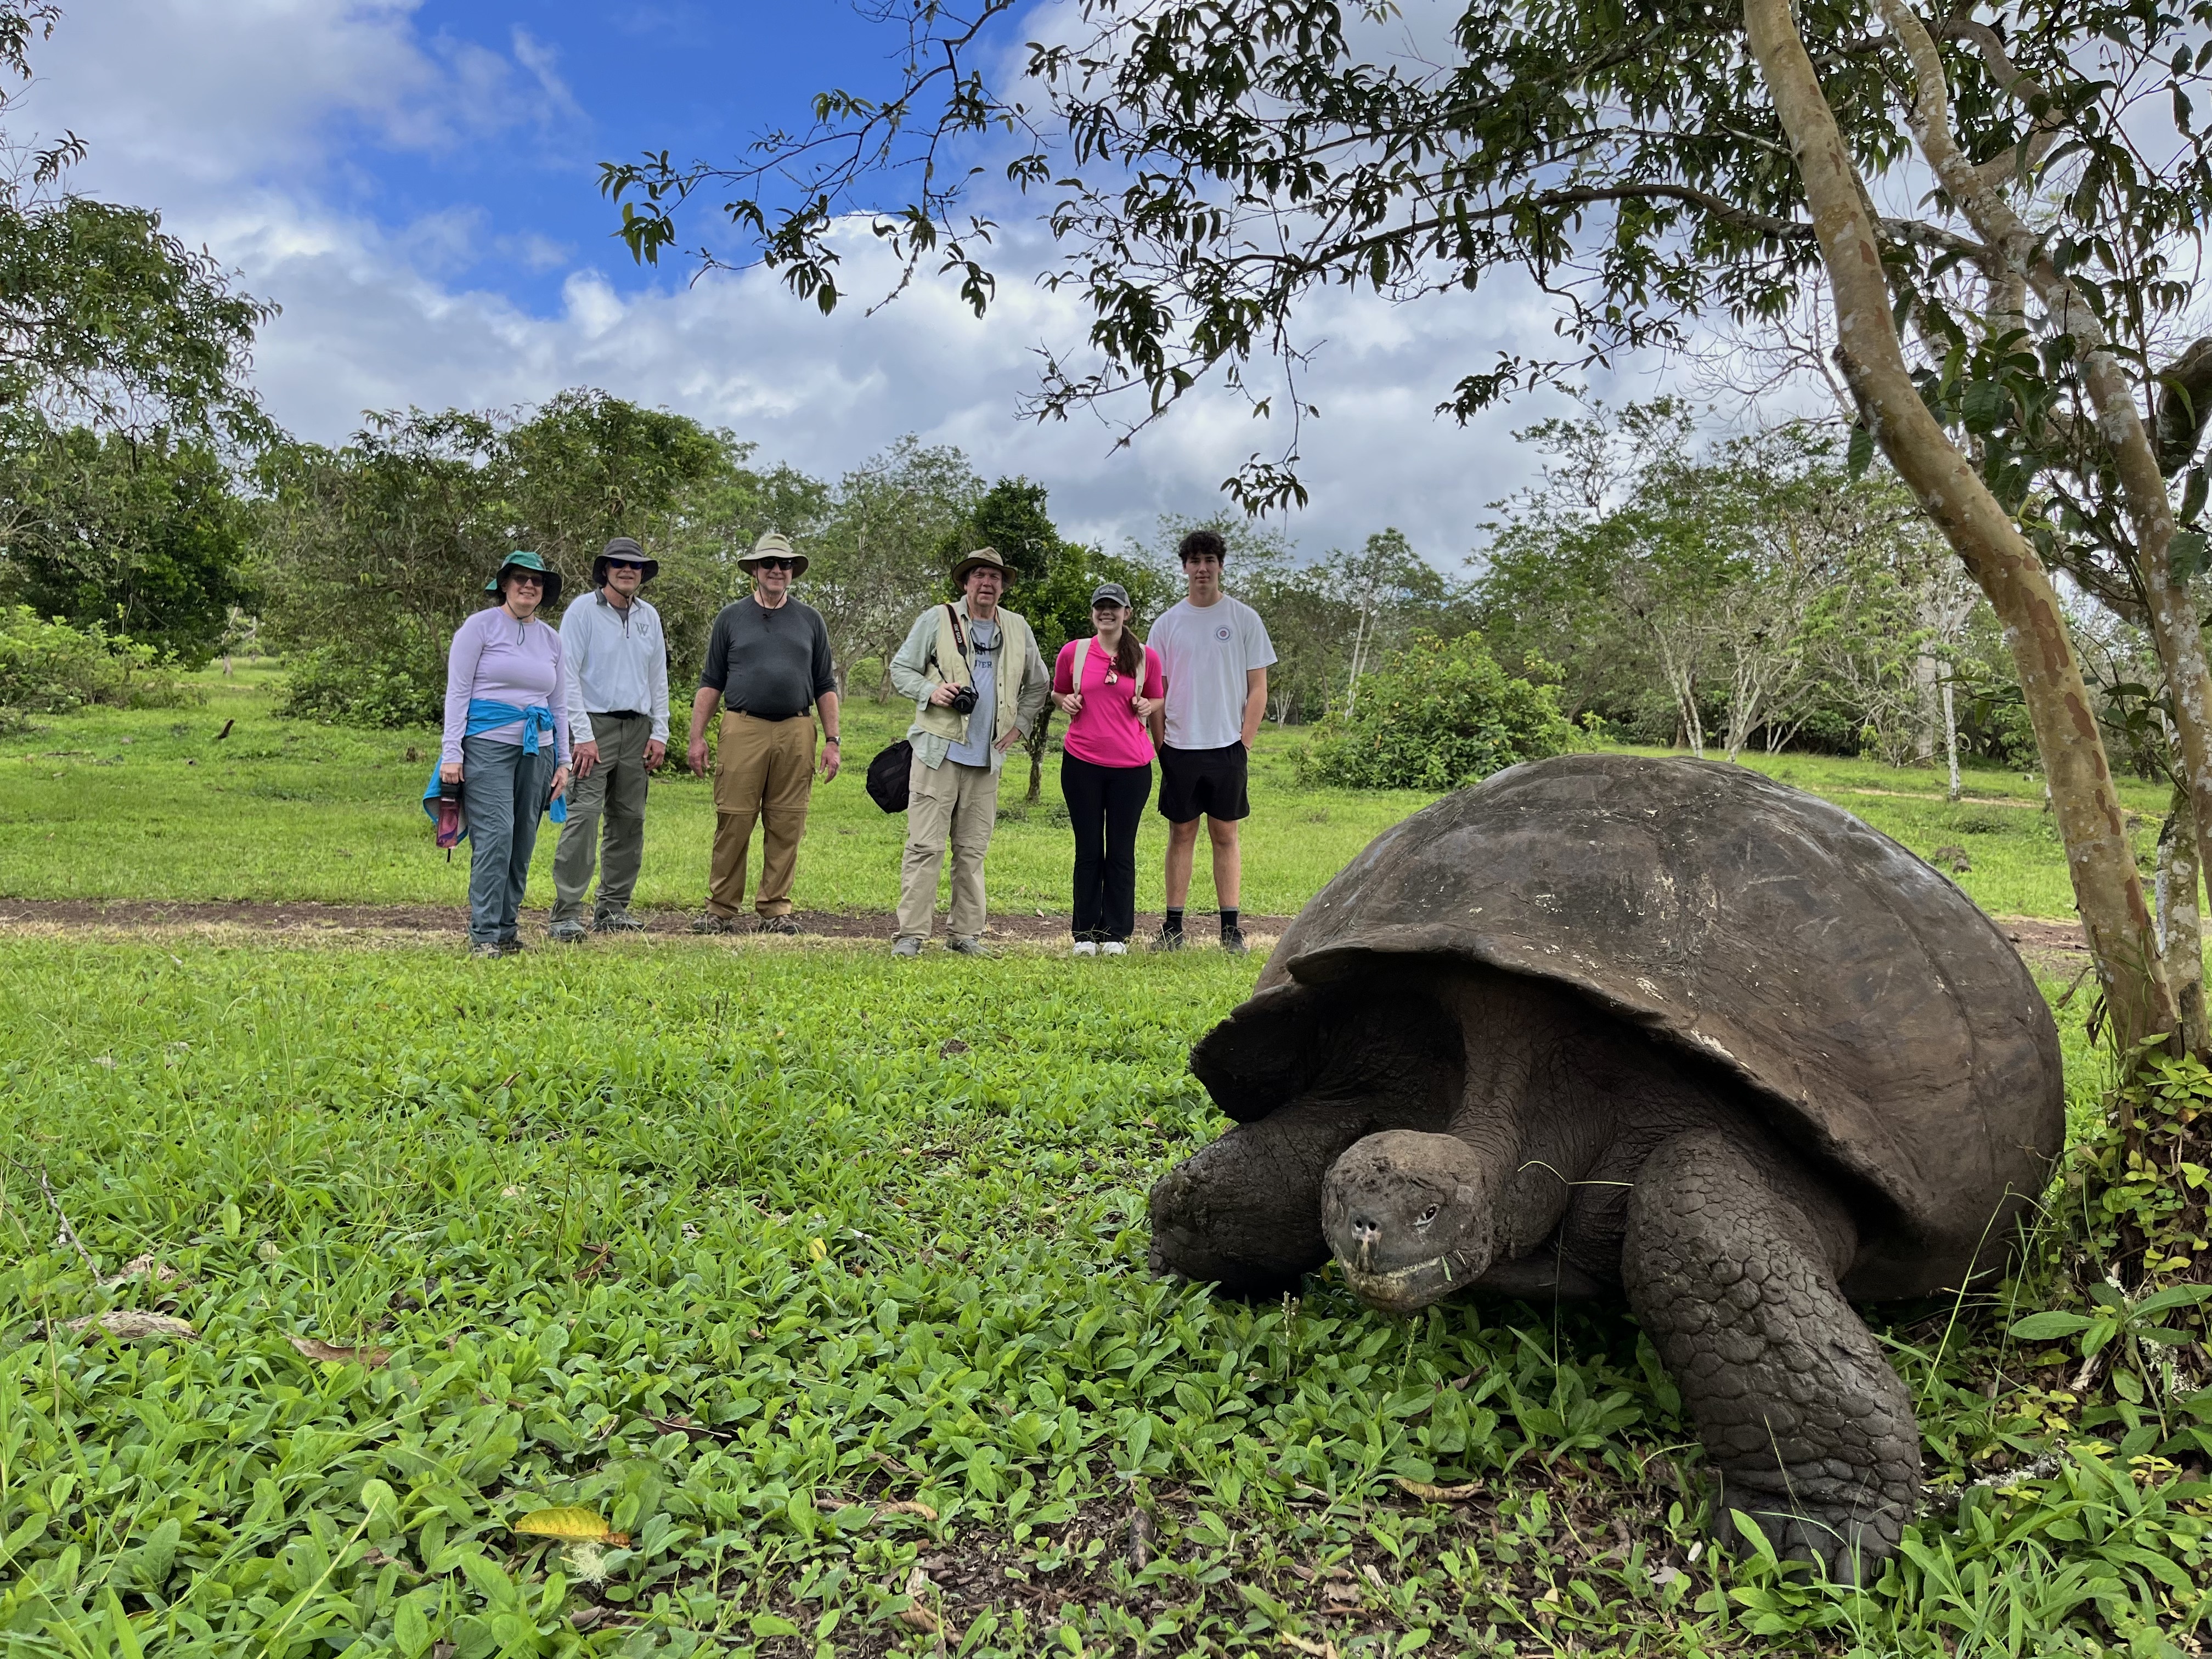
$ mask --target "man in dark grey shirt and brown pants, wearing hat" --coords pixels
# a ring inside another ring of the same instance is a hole
[[[792,597],[807,560],[770,531],[739,560],[752,595],[726,604],[706,646],[692,697],[690,763],[706,774],[706,723],[721,703],[714,763],[714,863],[706,914],[692,933],[737,933],[745,911],[745,852],[761,821],[761,885],[752,894],[761,933],[796,933],[792,876],[814,792],[814,708],[823,712],[823,783],[838,770],[836,675],[823,615]]]

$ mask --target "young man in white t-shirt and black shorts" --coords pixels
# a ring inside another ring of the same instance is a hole
[[[1199,847],[1199,818],[1214,845],[1214,896],[1221,900],[1221,949],[1243,951],[1237,898],[1243,852],[1237,825],[1252,812],[1245,757],[1267,710],[1267,664],[1274,646],[1259,613],[1221,591],[1228,546],[1214,531],[1192,531],[1177,546],[1190,595],[1152,624],[1146,639],[1159,653],[1168,699],[1152,717],[1159,743],[1159,816],[1168,821],[1168,916],[1155,951],[1183,949],[1183,900]]]

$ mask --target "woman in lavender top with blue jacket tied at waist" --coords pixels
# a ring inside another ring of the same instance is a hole
[[[560,597],[560,571],[509,553],[484,593],[500,602],[453,630],[445,659],[438,779],[467,781],[469,956],[511,956],[538,818],[568,790],[560,633],[538,622],[538,606]]]

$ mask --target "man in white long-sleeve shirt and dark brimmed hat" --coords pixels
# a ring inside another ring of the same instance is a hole
[[[560,619],[575,790],[553,854],[549,940],[584,938],[593,863],[599,865],[593,931],[644,927],[630,916],[630,894],[646,856],[646,774],[668,754],[668,641],[661,613],[637,591],[659,568],[637,542],[617,535],[591,566],[591,593]],[[597,845],[602,816],[604,849]]]

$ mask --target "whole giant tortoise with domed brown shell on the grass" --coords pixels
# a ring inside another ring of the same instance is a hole
[[[1152,1265],[1279,1294],[1336,1256],[1405,1312],[1626,1292],[1714,1513],[1856,1575],[1920,1491],[1851,1301],[2002,1265],[2064,1133],[1997,927],[1734,765],[1517,765],[1378,836],[1190,1055],[1225,1137],[1152,1188]]]

